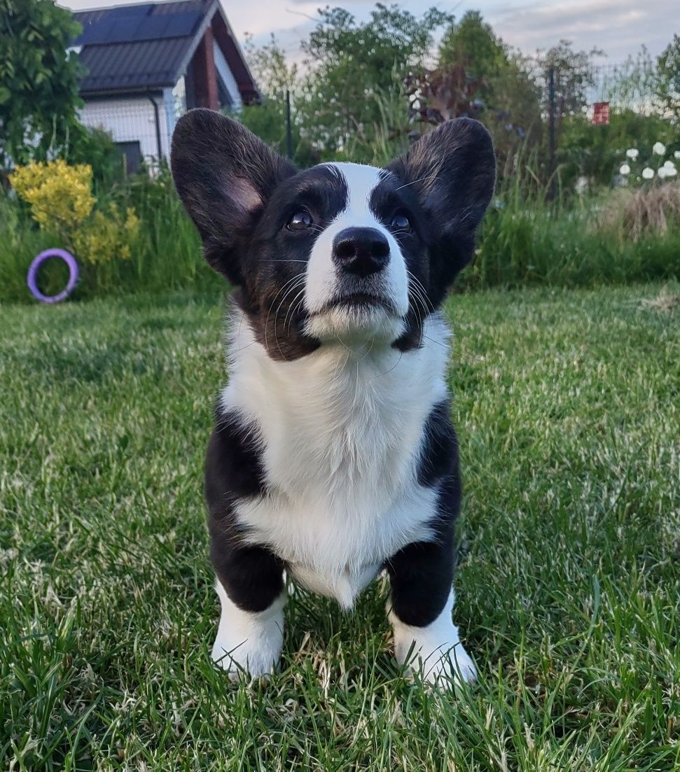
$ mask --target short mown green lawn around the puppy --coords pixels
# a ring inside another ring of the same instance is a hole
[[[295,594],[269,683],[213,669],[216,297],[0,308],[0,769],[680,769],[660,289],[450,300],[456,621],[480,670],[456,693],[393,665],[380,583],[352,613]]]

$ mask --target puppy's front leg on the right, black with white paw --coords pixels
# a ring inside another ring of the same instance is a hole
[[[399,664],[416,662],[428,681],[441,676],[471,681],[476,674],[452,620],[457,500],[457,479],[444,481],[433,540],[408,544],[386,563],[396,659]]]

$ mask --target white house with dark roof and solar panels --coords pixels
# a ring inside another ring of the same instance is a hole
[[[192,107],[238,110],[259,99],[219,0],[119,5],[74,14],[87,74],[80,122],[103,128],[136,171],[167,158],[175,123]]]

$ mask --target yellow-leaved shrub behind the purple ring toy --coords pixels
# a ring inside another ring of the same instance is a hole
[[[89,164],[32,162],[12,172],[9,180],[38,225],[59,233],[79,259],[92,265],[130,259],[139,218],[133,208],[123,214],[113,202],[105,209],[94,208]]]

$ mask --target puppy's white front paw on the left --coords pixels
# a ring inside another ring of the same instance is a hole
[[[243,675],[270,675],[284,643],[284,596],[266,611],[253,614],[233,604],[219,581],[216,590],[222,615],[213,644],[213,662],[233,680]]]

